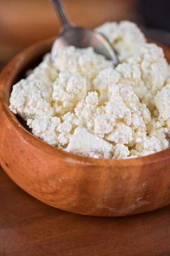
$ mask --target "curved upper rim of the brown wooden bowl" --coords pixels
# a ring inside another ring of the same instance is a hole
[[[170,147],[164,150],[161,150],[159,152],[156,152],[154,154],[150,154],[142,157],[128,158],[128,159],[111,159],[111,158],[105,159],[105,158],[85,157],[85,156],[69,153],[62,149],[56,148],[46,143],[45,141],[41,140],[40,138],[34,136],[31,132],[27,131],[26,128],[23,127],[23,125],[19,122],[17,117],[14,115],[14,113],[12,113],[9,109],[9,97],[7,95],[8,93],[6,93],[6,84],[10,84],[10,87],[12,88],[13,85],[11,84],[11,82],[14,80],[17,74],[19,74],[23,70],[22,64],[24,65],[29,64],[28,60],[33,55],[35,55],[34,60],[36,60],[36,58],[43,56],[45,53],[49,52],[50,47],[52,46],[54,40],[55,40],[55,37],[52,37],[27,47],[23,51],[19,52],[14,58],[12,58],[11,61],[8,62],[8,64],[3,68],[3,70],[0,73],[0,107],[2,112],[5,114],[6,118],[8,118],[8,121],[11,123],[13,128],[17,131],[17,133],[27,143],[31,143],[31,145],[34,145],[34,147],[38,147],[39,149],[48,148],[48,151],[51,154],[53,154],[53,156],[54,155],[56,155],[56,157],[60,156],[60,158],[62,158],[63,160],[69,159],[79,164],[85,163],[86,165],[89,164],[93,166],[104,166],[107,163],[109,166],[118,165],[118,166],[128,167],[131,165],[142,166],[145,164],[147,165],[150,163],[158,162],[160,160],[168,159],[170,155]],[[153,41],[150,41],[150,40],[149,42],[154,43]],[[170,53],[170,49],[168,47],[162,46],[161,44],[158,44],[158,43],[156,44],[162,47],[163,50],[166,50],[167,52]],[[47,51],[47,49],[49,50]]]

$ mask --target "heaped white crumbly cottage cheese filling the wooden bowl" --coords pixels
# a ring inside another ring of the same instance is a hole
[[[13,86],[9,108],[32,133],[75,154],[125,159],[169,146],[170,66],[163,50],[146,43],[136,24],[97,28],[120,64],[92,48],[64,47]]]

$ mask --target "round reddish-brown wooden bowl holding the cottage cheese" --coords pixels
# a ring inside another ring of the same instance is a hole
[[[49,52],[54,38],[17,55],[0,76],[0,164],[45,204],[85,215],[123,216],[170,203],[170,148],[128,160],[70,154],[38,139],[9,110],[12,85]],[[170,61],[170,49],[164,48]]]

